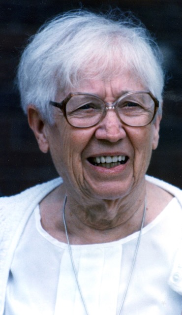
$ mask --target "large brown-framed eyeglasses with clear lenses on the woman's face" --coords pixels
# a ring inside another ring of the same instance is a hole
[[[107,110],[115,110],[121,122],[127,126],[149,125],[155,117],[159,101],[149,91],[128,92],[114,103],[106,103],[100,97],[88,93],[70,93],[60,103],[50,105],[61,109],[66,121],[77,128],[97,125]]]

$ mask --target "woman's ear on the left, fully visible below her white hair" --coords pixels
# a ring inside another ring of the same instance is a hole
[[[43,153],[47,153],[49,151],[49,143],[46,124],[42,120],[38,110],[31,104],[28,106],[28,122],[38,142],[39,149]]]

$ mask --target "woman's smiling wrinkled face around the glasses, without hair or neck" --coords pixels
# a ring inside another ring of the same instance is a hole
[[[92,80],[70,92],[91,93],[114,102],[123,92],[139,90],[146,87],[125,74],[107,82]],[[142,188],[152,149],[158,144],[159,118],[148,126],[130,127],[111,109],[98,125],[75,128],[60,109],[55,112],[55,125],[46,126],[46,137],[67,194],[116,199]]]

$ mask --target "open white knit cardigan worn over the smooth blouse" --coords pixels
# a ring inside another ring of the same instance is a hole
[[[182,190],[149,176],[146,176],[146,179],[169,191],[182,206]],[[57,178],[18,195],[0,198],[0,315],[3,315],[4,311],[6,286],[13,254],[24,227],[37,204],[61,183],[62,179]],[[169,284],[182,294],[182,247],[177,253]]]

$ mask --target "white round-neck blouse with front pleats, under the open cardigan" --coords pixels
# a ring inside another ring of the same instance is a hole
[[[89,315],[118,315],[138,233],[119,241],[72,245]],[[182,315],[182,296],[168,285],[182,240],[182,210],[173,198],[142,231],[122,315]],[[41,226],[37,206],[16,249],[4,315],[86,315],[67,244]]]

